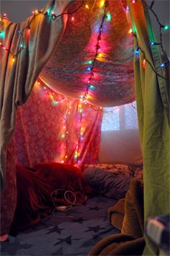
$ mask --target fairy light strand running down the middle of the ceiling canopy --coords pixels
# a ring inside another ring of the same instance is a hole
[[[93,90],[94,89],[94,85],[91,84],[91,81],[95,78],[94,76],[94,64],[97,61],[97,57],[99,56],[99,52],[100,52],[100,42],[102,39],[102,28],[103,28],[103,24],[104,24],[104,19],[108,18],[109,20],[111,19],[111,15],[108,13],[107,14],[107,6],[108,6],[108,1],[101,1],[100,2],[100,8],[102,8],[104,6],[104,15],[102,17],[102,22],[101,25],[99,27],[99,35],[97,37],[97,45],[96,45],[96,51],[95,51],[95,56],[93,60],[89,60],[86,63],[88,65],[91,66],[87,66],[86,71],[89,72],[89,79],[87,81],[87,85],[86,85],[86,92],[84,94],[81,94],[80,100],[81,102],[86,102],[86,100],[88,100],[90,98],[90,89]]]

